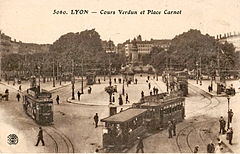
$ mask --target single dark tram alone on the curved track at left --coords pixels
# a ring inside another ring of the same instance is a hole
[[[38,124],[51,124],[53,122],[53,100],[51,93],[32,87],[23,93],[23,109],[28,116]]]

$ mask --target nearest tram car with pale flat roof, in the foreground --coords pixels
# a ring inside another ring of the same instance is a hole
[[[101,119],[101,122],[105,122],[103,147],[122,149],[131,146],[138,136],[147,131],[144,122],[146,114],[147,109],[129,108]]]

